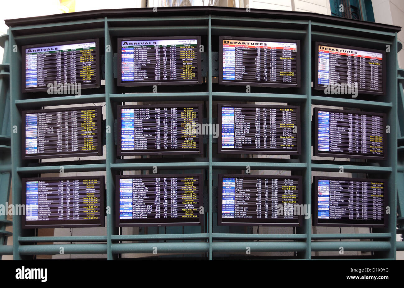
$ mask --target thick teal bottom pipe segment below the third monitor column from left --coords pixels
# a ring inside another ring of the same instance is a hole
[[[213,242],[213,252],[240,252],[246,253],[248,247],[250,252],[292,252],[305,251],[305,242]]]

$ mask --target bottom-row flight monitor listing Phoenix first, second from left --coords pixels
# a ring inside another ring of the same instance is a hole
[[[117,175],[117,227],[202,225],[202,182],[202,174]]]

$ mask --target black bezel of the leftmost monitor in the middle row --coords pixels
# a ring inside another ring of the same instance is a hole
[[[74,111],[74,110],[84,110],[84,109],[97,109],[97,149],[91,152],[64,152],[64,153],[43,153],[39,154],[25,154],[25,132],[26,132],[26,114],[30,113],[46,113],[46,112],[55,112],[55,111]],[[49,158],[65,158],[65,157],[85,157],[85,156],[102,156],[103,149],[102,149],[102,107],[101,106],[86,106],[86,107],[68,107],[68,108],[55,108],[55,109],[39,109],[39,110],[24,110],[21,111],[21,132],[23,137],[21,137],[21,159],[49,159]],[[32,155],[32,156],[31,156]]]

